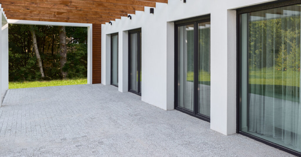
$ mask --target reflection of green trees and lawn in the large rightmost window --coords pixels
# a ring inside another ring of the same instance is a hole
[[[300,16],[249,22],[249,82],[299,86]]]

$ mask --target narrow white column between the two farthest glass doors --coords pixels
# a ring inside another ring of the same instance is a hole
[[[128,31],[120,31],[118,39],[118,90],[128,92]]]

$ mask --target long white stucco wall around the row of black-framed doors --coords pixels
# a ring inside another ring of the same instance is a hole
[[[222,134],[236,132],[236,11],[263,0],[170,0],[157,3],[154,14],[136,11],[132,20],[102,25],[101,82],[110,84],[110,34],[119,32],[119,91],[126,92],[128,76],[127,30],[142,31],[141,100],[164,110],[174,108],[173,21],[211,15],[211,129]],[[108,43],[109,42],[109,43]]]

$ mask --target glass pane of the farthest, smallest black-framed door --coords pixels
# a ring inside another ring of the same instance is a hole
[[[112,84],[118,86],[118,35],[112,36]]]

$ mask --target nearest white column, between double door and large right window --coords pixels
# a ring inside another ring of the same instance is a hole
[[[236,132],[236,11],[211,13],[210,128]]]

